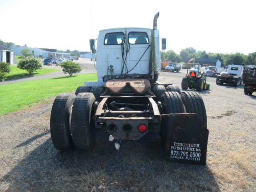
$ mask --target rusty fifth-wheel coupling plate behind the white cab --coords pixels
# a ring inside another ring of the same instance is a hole
[[[112,79],[106,82],[105,89],[114,95],[120,95],[123,92],[133,92],[142,95],[151,88],[147,79]]]

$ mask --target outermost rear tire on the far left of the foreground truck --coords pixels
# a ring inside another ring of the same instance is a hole
[[[70,113],[76,98],[75,94],[59,94],[52,105],[50,117],[50,132],[53,145],[63,151],[74,148],[74,143],[70,135]]]

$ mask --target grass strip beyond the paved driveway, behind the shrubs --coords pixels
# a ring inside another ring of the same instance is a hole
[[[10,73],[8,73],[6,76],[6,80],[13,80],[13,79],[20,79],[20,78],[27,78],[27,77],[33,77],[38,75],[44,75],[49,73],[58,72],[58,69],[48,69],[48,68],[42,68],[38,69],[34,72],[34,74],[29,74],[26,70],[22,70],[18,68],[17,66],[10,66]]]

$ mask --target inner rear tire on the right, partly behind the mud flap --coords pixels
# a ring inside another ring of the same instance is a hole
[[[160,101],[162,103],[162,107],[160,109],[161,114],[184,113],[182,98],[178,92],[164,92]],[[167,130],[171,129],[172,125],[172,118],[169,116],[164,116],[162,118],[160,136],[163,146],[166,144]]]

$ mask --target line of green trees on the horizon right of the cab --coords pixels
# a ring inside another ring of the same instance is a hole
[[[222,66],[234,65],[256,65],[256,52],[248,55],[236,52],[234,54],[212,53],[206,51],[196,51],[195,48],[189,47],[182,49],[180,54],[173,50],[161,51],[161,59],[172,60],[173,62],[187,62],[187,58],[217,58]]]

